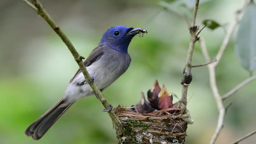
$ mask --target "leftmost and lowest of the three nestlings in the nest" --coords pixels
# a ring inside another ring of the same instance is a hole
[[[139,113],[151,113],[152,112],[152,107],[148,101],[145,100],[144,93],[141,92],[141,99],[139,104],[136,106],[136,110]]]

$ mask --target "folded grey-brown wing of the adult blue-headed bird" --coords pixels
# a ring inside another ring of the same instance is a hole
[[[99,57],[101,55],[103,55],[103,53],[104,53],[103,52],[103,47],[104,47],[103,45],[100,45],[100,46],[97,46],[95,49],[93,49],[93,51],[90,53],[90,55],[84,61],[84,65],[86,67],[91,65],[94,61],[97,61],[99,59]],[[72,77],[72,79],[69,81],[69,83],[72,82],[79,73],[81,73],[80,68],[77,70],[77,72]]]

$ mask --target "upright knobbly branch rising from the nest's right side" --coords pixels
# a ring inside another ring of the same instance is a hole
[[[189,28],[189,30],[190,30],[190,43],[189,43],[189,48],[188,48],[188,52],[187,52],[187,61],[186,61],[186,65],[185,65],[184,72],[183,72],[183,79],[181,81],[182,94],[183,94],[182,97],[181,97],[181,103],[183,103],[184,105],[187,105],[187,87],[190,84],[190,82],[192,81],[192,73],[191,73],[192,55],[193,55],[195,43],[198,40],[198,38],[197,38],[198,27],[195,26],[198,5],[199,5],[199,0],[195,0],[193,18],[192,18],[192,22],[191,22],[190,28]]]

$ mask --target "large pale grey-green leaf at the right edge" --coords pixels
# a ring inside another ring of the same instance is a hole
[[[239,63],[252,73],[256,69],[256,5],[248,4],[236,35],[235,51]]]

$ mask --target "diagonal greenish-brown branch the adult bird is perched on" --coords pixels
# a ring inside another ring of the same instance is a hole
[[[69,39],[64,34],[64,32],[59,28],[59,26],[56,24],[56,22],[54,22],[54,20],[50,17],[50,15],[47,13],[47,11],[43,8],[42,4],[38,0],[32,0],[32,4],[27,0],[23,0],[23,1],[27,5],[29,5],[29,7],[31,7],[33,10],[35,10],[51,26],[51,28],[54,30],[54,32],[56,32],[57,35],[59,35],[59,37],[62,39],[62,41],[66,44],[66,46],[69,48],[70,52],[72,53],[75,61],[77,62],[79,68],[81,69],[82,73],[84,74],[84,78],[86,79],[87,82],[89,82],[91,76],[88,73],[88,71],[84,65],[84,62],[82,60],[83,57],[81,55],[79,55],[79,53],[76,51],[76,49],[73,46],[73,44],[71,43],[71,41],[69,41]],[[105,109],[108,109],[109,103],[107,102],[105,97],[102,95],[99,88],[97,88],[97,86],[95,85],[95,83],[93,81],[89,82],[89,85],[93,89],[95,94],[98,96],[98,98],[100,99],[100,101],[101,101],[102,105],[105,107]],[[114,124],[120,130],[123,130],[123,127],[122,127],[122,125],[120,125],[120,121],[117,118],[117,116],[114,114],[114,111],[113,110],[109,111],[108,115],[110,116],[110,118],[112,119]]]

